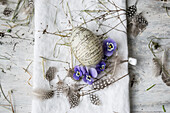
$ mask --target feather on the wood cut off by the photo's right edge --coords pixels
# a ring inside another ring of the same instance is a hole
[[[167,51],[164,50],[163,56],[162,56],[162,80],[167,85],[170,86],[170,74],[166,70],[166,57],[167,57]]]

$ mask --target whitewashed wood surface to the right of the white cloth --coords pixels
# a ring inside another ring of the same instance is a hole
[[[128,1],[129,5],[134,3],[135,0]],[[150,36],[170,38],[170,17],[162,8],[163,3],[161,0],[139,0],[137,4],[138,13],[143,12],[149,24],[137,38],[129,37],[128,40],[129,56],[138,59],[136,67],[129,67],[130,74],[136,78],[136,83],[130,89],[131,110],[134,113],[162,113],[162,105],[170,112],[170,87],[163,83],[160,76],[152,76],[153,55],[148,48]],[[153,84],[156,85],[146,91]]]

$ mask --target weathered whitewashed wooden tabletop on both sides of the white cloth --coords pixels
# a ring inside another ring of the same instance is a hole
[[[129,0],[128,4],[132,5],[134,2],[135,0]],[[128,40],[129,56],[138,59],[136,67],[129,67],[130,74],[135,75],[136,80],[130,89],[132,113],[161,113],[163,112],[162,105],[165,105],[167,113],[170,112],[170,87],[162,82],[161,77],[152,76],[151,61],[153,55],[147,46],[149,43],[147,37],[149,36],[170,37],[170,17],[161,7],[163,3],[161,0],[139,0],[137,4],[138,13],[143,11],[149,25],[137,38],[129,38]],[[16,4],[14,5],[16,6]],[[168,5],[170,7],[170,4]],[[0,12],[5,7],[0,5]],[[5,32],[8,27],[2,26],[2,24],[4,24],[4,21],[0,20],[0,31]],[[32,87],[27,83],[30,76],[23,70],[33,60],[33,28],[30,29],[30,27],[18,27],[11,33],[14,35],[17,30],[21,30],[20,36],[30,40],[13,39],[6,36],[0,38],[0,55],[10,59],[0,59],[0,81],[6,95],[8,91],[13,90],[12,99],[16,113],[31,112]],[[33,74],[33,63],[28,71]],[[146,91],[153,84],[156,84],[155,87]],[[11,113],[10,109],[6,109],[10,107],[1,106],[4,104],[8,103],[0,93],[0,113]]]

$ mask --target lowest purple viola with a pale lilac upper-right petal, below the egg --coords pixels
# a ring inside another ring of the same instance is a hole
[[[84,82],[88,83],[89,85],[92,85],[94,82],[93,78],[97,78],[97,70],[95,68],[90,68],[87,73],[84,75]]]

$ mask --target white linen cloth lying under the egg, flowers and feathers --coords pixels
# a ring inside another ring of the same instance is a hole
[[[103,3],[107,0],[101,0]],[[68,2],[68,3],[67,3]],[[52,61],[42,61],[45,57],[48,59],[59,59],[62,61],[70,62],[70,48],[64,46],[56,46],[60,49],[59,55],[57,52],[54,53],[55,44],[61,39],[57,35],[49,35],[43,33],[46,31],[54,33],[55,31],[65,30],[72,28],[73,26],[78,26],[84,22],[84,20],[89,20],[94,15],[89,16],[87,13],[82,14],[81,10],[91,9],[91,10],[107,10],[102,9],[101,4],[96,5],[98,0],[35,0],[35,47],[34,47],[34,73],[33,73],[33,88],[43,88],[49,89],[49,84],[47,80],[43,77],[43,66],[44,62],[45,71],[49,66],[57,67],[57,75],[63,79],[67,72],[64,68],[68,68],[66,63],[52,62]],[[114,0],[114,3],[119,7],[126,9],[126,0]],[[67,5],[68,4],[68,5]],[[106,3],[109,9],[115,9],[113,4]],[[103,6],[102,6],[103,7]],[[72,17],[70,17],[70,15]],[[80,16],[83,15],[84,17]],[[91,14],[91,13],[90,13]],[[88,15],[88,16],[87,16]],[[97,14],[96,14],[97,15]],[[66,17],[67,16],[67,17]],[[71,21],[71,18],[73,21]],[[126,19],[125,15],[120,16],[121,20]],[[84,20],[83,20],[84,19]],[[69,20],[69,21],[68,21]],[[71,24],[70,24],[71,23]],[[114,21],[108,20],[105,22],[107,25],[117,25],[120,23],[119,19]],[[128,48],[127,48],[127,35],[126,32],[126,20],[122,24],[118,25],[116,28],[119,30],[112,30],[107,33],[107,36],[113,38],[118,44],[119,55],[122,59],[128,58]],[[48,26],[48,27],[47,27]],[[96,21],[84,24],[83,27],[90,29],[97,35],[106,32],[108,27],[101,27],[98,32],[96,29],[99,24]],[[63,38],[64,39],[64,38]],[[55,55],[54,55],[55,54]],[[54,58],[54,56],[58,56]],[[75,66],[75,64],[74,64]],[[128,73],[128,63],[123,63],[116,71],[116,75],[119,77]],[[57,81],[56,77],[56,81]],[[66,80],[66,82],[71,82],[71,80]],[[55,83],[55,80],[54,80]],[[80,100],[79,106],[70,109],[67,97],[62,96],[61,98],[54,96],[48,100],[39,100],[33,98],[32,100],[32,113],[129,113],[129,76],[119,80],[118,82],[112,84],[108,88],[101,92],[98,92],[102,104],[100,106],[95,106],[90,103],[89,97],[85,97]]]

